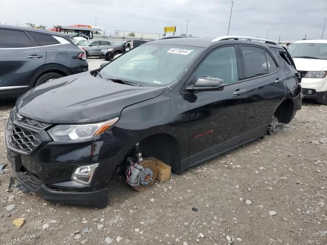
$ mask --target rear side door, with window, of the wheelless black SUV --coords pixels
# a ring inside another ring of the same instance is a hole
[[[286,77],[272,53],[255,45],[240,45],[247,104],[245,140],[261,137],[286,94]]]

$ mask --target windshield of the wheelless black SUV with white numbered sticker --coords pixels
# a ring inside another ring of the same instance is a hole
[[[142,86],[161,87],[175,81],[201,47],[144,44],[133,48],[100,71],[104,79],[118,78]]]

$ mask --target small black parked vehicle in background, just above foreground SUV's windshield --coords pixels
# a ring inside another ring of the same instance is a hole
[[[106,60],[112,60],[113,57],[120,56],[124,54],[125,52],[131,50],[134,47],[137,47],[143,43],[146,43],[147,41],[145,40],[124,40],[124,41],[119,41],[115,42],[114,44],[110,46],[104,46],[101,48],[100,51],[100,56],[102,59]]]

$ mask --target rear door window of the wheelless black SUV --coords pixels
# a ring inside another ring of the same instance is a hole
[[[268,74],[265,50],[260,47],[242,46],[245,65],[245,78]]]

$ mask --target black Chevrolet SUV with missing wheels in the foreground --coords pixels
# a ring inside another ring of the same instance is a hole
[[[144,190],[158,161],[181,174],[276,133],[301,108],[293,60],[272,42],[229,39],[151,41],[33,88],[6,129],[16,179],[49,201],[104,207],[115,169]]]

